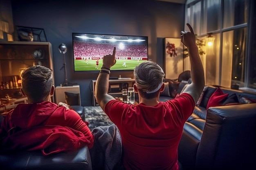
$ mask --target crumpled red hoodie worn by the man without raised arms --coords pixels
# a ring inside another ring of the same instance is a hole
[[[2,122],[0,151],[42,150],[44,155],[75,150],[88,145],[94,137],[74,110],[52,102],[18,104]]]

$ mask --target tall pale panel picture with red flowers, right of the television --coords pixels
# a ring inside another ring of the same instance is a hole
[[[177,79],[183,72],[183,44],[180,38],[164,38],[163,67],[167,79]]]

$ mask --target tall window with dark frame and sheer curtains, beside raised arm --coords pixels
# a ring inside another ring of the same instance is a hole
[[[209,33],[215,37],[211,49],[207,47],[206,55],[200,56],[206,84],[227,88],[237,84],[240,89],[256,91],[256,38],[252,38],[256,33],[250,31],[256,26],[253,17],[255,4],[254,0],[186,2],[186,9],[189,10],[185,14],[185,23],[196,29],[198,38],[205,39]],[[251,25],[247,23],[250,20]],[[252,36],[248,36],[250,32]]]

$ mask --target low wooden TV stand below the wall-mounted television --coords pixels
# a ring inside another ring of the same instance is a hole
[[[132,87],[135,83],[135,79],[124,77],[118,79],[109,79],[108,84],[108,94],[112,95],[113,97],[122,97],[122,88]],[[92,105],[99,106],[95,99],[95,85],[96,80],[92,80]]]

